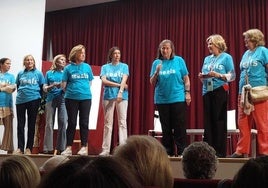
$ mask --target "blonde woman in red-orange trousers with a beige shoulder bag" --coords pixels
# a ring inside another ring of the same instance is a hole
[[[240,131],[236,151],[231,157],[247,157],[250,151],[251,127],[255,122],[258,130],[259,155],[268,155],[268,110],[267,101],[254,103],[254,111],[250,114],[244,112],[245,106],[241,105],[243,86],[248,83],[251,87],[267,85],[268,50],[264,46],[264,35],[259,29],[249,29],[243,33],[247,50],[240,62],[240,80],[238,93],[238,128]]]

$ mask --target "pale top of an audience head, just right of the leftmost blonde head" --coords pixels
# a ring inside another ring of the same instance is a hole
[[[68,157],[63,155],[54,155],[44,162],[44,164],[39,168],[39,171],[42,175],[48,174],[58,165],[63,164],[69,160]]]

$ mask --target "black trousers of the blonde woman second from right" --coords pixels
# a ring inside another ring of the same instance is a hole
[[[223,87],[203,96],[204,141],[216,150],[218,157],[226,157],[227,96]]]

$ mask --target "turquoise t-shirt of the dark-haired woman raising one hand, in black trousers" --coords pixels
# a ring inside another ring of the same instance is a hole
[[[154,103],[169,104],[185,101],[184,76],[188,75],[185,61],[182,57],[174,56],[173,59],[156,59],[152,64],[150,77],[156,71],[156,66],[162,63],[157,83],[155,85]]]

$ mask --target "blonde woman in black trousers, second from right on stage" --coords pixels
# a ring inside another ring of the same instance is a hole
[[[234,63],[221,35],[210,35],[206,42],[210,55],[198,75],[203,83],[204,141],[218,157],[226,157],[228,83],[235,80]]]

